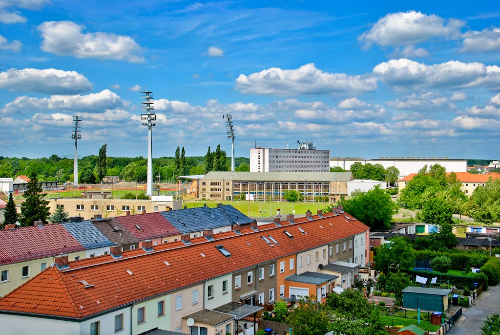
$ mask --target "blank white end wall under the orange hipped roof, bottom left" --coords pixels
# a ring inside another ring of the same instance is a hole
[[[0,333],[8,335],[53,335],[55,332],[61,335],[80,334],[79,322],[61,321],[49,318],[0,314],[0,324]]]

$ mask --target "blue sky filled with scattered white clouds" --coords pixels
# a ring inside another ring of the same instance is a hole
[[[495,2],[0,0],[0,155],[236,156],[312,140],[342,157],[498,159]]]

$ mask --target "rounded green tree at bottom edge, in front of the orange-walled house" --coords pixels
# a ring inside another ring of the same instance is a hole
[[[301,299],[286,318],[294,335],[324,335],[328,331],[329,317],[314,296]]]

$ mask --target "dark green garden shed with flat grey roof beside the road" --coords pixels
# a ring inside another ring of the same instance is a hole
[[[448,309],[449,288],[408,286],[403,293],[403,307],[443,312]]]

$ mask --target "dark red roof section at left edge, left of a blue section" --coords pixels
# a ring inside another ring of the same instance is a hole
[[[62,224],[0,230],[0,265],[85,250]]]

